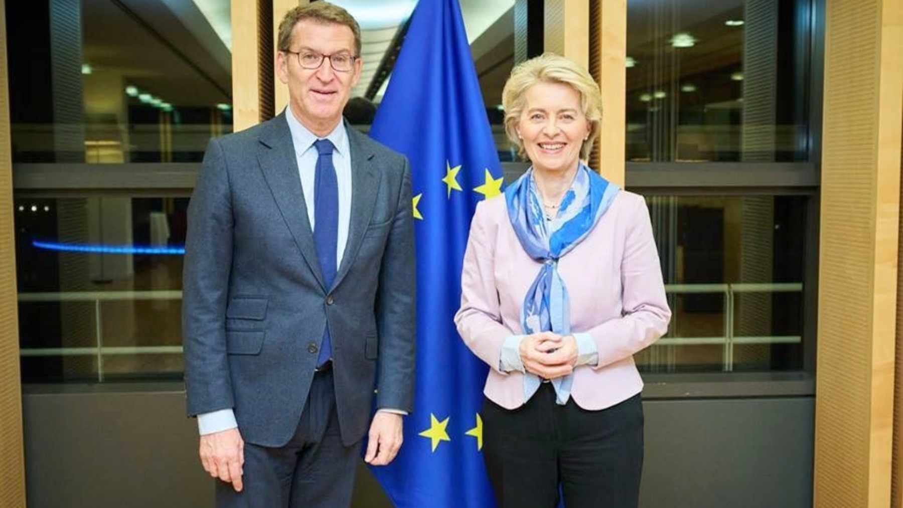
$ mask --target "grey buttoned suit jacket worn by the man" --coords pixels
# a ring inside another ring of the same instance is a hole
[[[414,226],[402,155],[348,129],[348,245],[326,287],[284,115],[209,142],[188,211],[182,292],[191,416],[233,408],[279,447],[298,424],[330,327],[342,440],[377,408],[412,411]],[[312,206],[312,205],[311,205]]]

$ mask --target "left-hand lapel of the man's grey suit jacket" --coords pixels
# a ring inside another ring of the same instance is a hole
[[[304,193],[301,189],[292,133],[288,129],[284,115],[285,112],[269,121],[267,128],[260,134],[257,162],[282,213],[285,225],[292,232],[294,243],[298,245],[317,282],[326,291],[326,283],[323,281],[320,263],[317,260],[317,249],[313,244],[311,221],[307,218],[307,203],[304,202]]]

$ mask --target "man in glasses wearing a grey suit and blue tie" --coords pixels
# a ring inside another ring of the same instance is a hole
[[[411,172],[342,121],[354,18],[297,7],[278,45],[289,106],[211,140],[191,196],[188,412],[218,506],[349,506],[368,428],[365,460],[388,464],[412,411]]]

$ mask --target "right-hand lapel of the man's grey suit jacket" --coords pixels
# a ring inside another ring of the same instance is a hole
[[[351,263],[358,254],[360,243],[367,232],[373,207],[377,202],[379,173],[373,158],[376,153],[368,146],[369,140],[353,127],[345,124],[351,152],[351,218],[349,220],[348,243],[342,254],[341,265],[336,273],[333,286],[339,285],[349,272]]]

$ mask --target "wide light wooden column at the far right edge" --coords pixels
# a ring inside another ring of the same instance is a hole
[[[890,504],[903,3],[826,3],[815,506]]]

